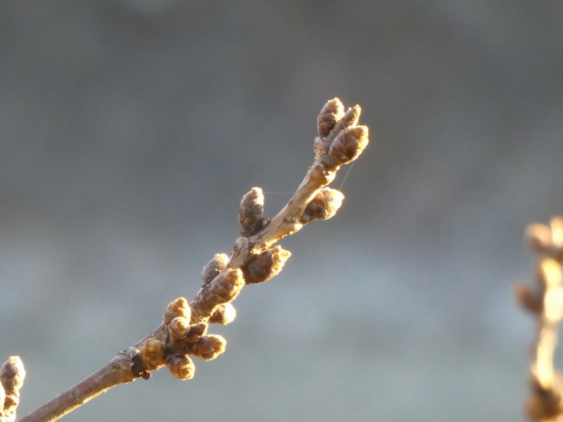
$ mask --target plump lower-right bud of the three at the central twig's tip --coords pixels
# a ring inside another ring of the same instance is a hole
[[[322,163],[327,167],[327,170],[336,170],[341,165],[358,158],[367,143],[367,126],[348,127],[334,138]]]

